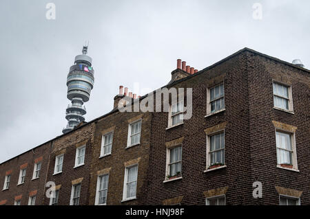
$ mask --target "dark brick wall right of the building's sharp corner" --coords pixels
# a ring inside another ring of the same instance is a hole
[[[310,205],[309,71],[264,56],[247,54],[251,132],[252,181],[262,182],[263,198],[255,204],[278,205],[276,186],[302,191],[301,205]],[[293,113],[273,108],[272,81],[290,84]],[[276,132],[272,121],[296,126],[298,170],[277,168]]]

